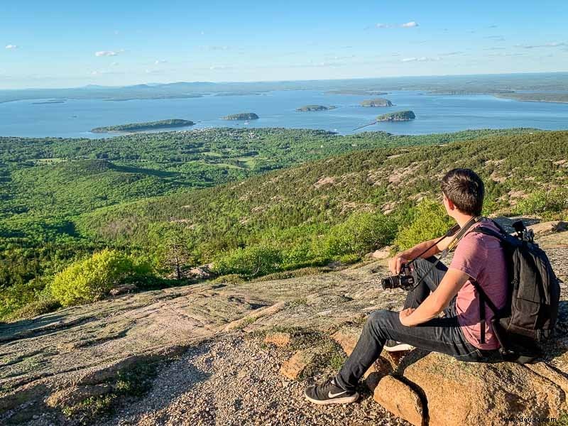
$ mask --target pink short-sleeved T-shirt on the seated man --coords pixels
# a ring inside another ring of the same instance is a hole
[[[495,224],[488,219],[477,222],[472,229],[476,226],[498,231]],[[481,343],[479,295],[474,285],[471,284],[471,280],[479,283],[496,307],[501,309],[505,306],[507,266],[500,241],[494,236],[470,231],[459,241],[449,267],[462,271],[470,277],[459,290],[456,298],[457,319],[465,338],[478,349],[497,349],[499,343],[491,327],[494,313],[487,305],[485,307],[485,344]]]

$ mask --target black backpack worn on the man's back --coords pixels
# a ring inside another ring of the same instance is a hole
[[[516,236],[508,234],[499,224],[500,232],[484,226],[471,229],[494,236],[501,241],[508,269],[508,300],[499,310],[487,297],[479,283],[473,282],[479,293],[481,342],[485,342],[485,305],[495,317],[491,320],[493,332],[506,361],[525,364],[540,353],[539,343],[554,331],[560,298],[558,278],[546,253],[532,241],[532,233],[523,222],[515,222]]]

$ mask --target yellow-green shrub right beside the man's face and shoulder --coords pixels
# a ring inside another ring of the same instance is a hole
[[[455,224],[441,202],[427,199],[410,211],[409,219],[410,225],[402,226],[395,239],[399,250],[440,237]]]

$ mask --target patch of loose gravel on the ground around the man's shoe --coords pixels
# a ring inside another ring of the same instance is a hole
[[[258,338],[219,337],[166,366],[151,393],[116,413],[109,425],[408,425],[368,391],[351,405],[308,403],[303,391],[312,381],[280,376],[284,359],[285,351]]]

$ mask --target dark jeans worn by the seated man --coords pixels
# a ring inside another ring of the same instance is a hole
[[[417,259],[414,263],[415,278],[424,279],[418,287],[406,297],[405,308],[417,307],[431,291],[442,281],[447,271],[446,266],[438,263],[430,272],[435,258]],[[427,275],[426,275],[427,274]],[[406,327],[400,323],[398,312],[378,310],[372,312],[361,332],[355,349],[335,377],[335,383],[345,390],[353,390],[361,378],[383,350],[388,339],[403,342],[427,351],[441,352],[462,361],[481,361],[486,351],[480,351],[471,345],[459,327],[455,311],[455,297],[444,310],[445,317]]]

